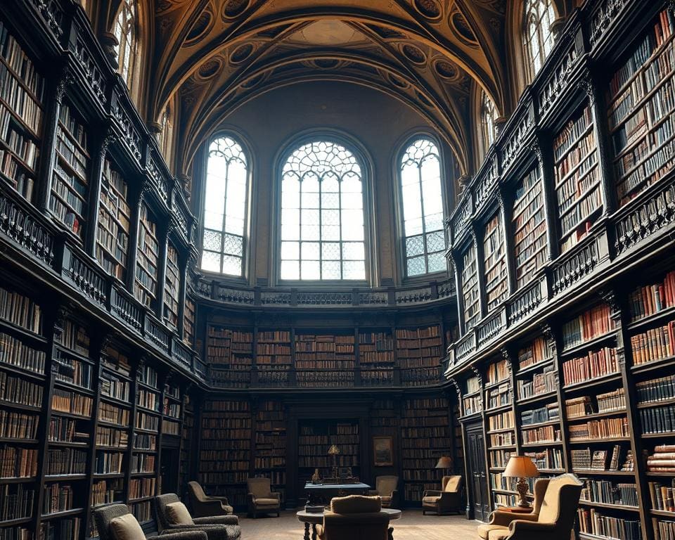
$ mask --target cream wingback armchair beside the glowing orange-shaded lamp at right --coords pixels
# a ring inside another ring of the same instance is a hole
[[[583,484],[567,473],[534,483],[532,513],[495,510],[490,522],[478,527],[483,540],[570,540]]]

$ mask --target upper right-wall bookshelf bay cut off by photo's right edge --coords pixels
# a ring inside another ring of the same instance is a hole
[[[619,205],[625,205],[673,167],[675,131],[671,84],[675,20],[664,9],[610,79],[608,122]]]

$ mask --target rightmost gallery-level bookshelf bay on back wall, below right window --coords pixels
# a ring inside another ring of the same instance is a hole
[[[439,325],[396,329],[396,357],[404,386],[435,385],[443,356]]]

